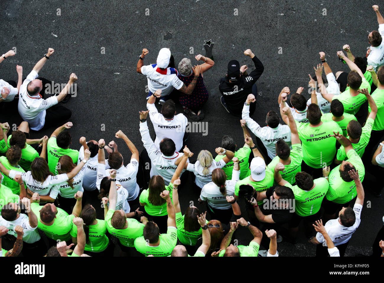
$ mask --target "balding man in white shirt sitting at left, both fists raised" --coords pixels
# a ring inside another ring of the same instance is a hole
[[[36,63],[20,87],[18,111],[23,120],[28,122],[34,131],[40,131],[43,127],[55,126],[59,122],[68,121],[72,115],[68,108],[56,104],[69,94],[71,86],[77,80],[76,75],[71,74],[70,80],[58,96],[52,95],[47,99],[44,99],[46,97],[45,92],[48,92],[47,88],[51,82],[43,78],[37,79],[38,72],[53,52],[55,52],[53,48],[48,49],[48,53]],[[43,89],[43,94],[40,94]]]

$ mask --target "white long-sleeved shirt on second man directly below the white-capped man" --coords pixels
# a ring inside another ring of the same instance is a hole
[[[160,175],[164,178],[164,182],[169,184],[172,181],[173,174],[177,169],[175,161],[184,156],[182,152],[174,152],[172,156],[164,156],[159,149],[156,148],[154,142],[149,135],[147,122],[140,123],[141,141],[144,144],[144,148],[148,152],[148,156],[151,159],[151,178],[155,175]],[[187,161],[189,162],[189,161]],[[185,171],[183,169],[181,174]]]

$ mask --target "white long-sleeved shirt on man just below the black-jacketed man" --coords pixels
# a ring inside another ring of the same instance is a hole
[[[268,156],[273,159],[276,156],[275,143],[282,139],[285,141],[290,149],[292,149],[291,144],[291,130],[288,125],[277,126],[275,129],[272,129],[268,126],[260,127],[260,125],[255,122],[252,118],[249,117],[249,105],[243,107],[242,119],[247,123],[247,127],[263,142]]]

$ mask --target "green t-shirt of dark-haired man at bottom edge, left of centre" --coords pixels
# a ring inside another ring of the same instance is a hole
[[[160,243],[158,246],[150,246],[144,236],[135,239],[135,248],[139,253],[145,256],[169,256],[177,243],[177,228],[168,227],[167,234],[160,234]]]

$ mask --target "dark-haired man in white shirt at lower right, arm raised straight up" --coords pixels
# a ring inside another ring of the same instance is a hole
[[[350,147],[352,149],[351,145]],[[360,225],[360,214],[364,204],[364,189],[359,178],[359,172],[350,170],[348,173],[356,184],[358,196],[356,197],[355,205],[353,208],[343,207],[339,212],[338,219],[331,219],[324,225],[333,244],[338,247],[340,256],[344,256],[349,239],[351,239],[352,234]],[[316,256],[328,256],[328,246],[323,234],[318,232],[316,237],[312,237],[309,242],[318,245],[316,248]]]

